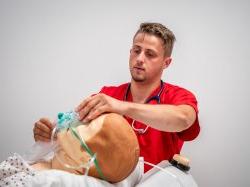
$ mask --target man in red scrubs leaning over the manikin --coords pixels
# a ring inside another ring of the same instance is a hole
[[[131,82],[103,87],[76,108],[83,122],[107,112],[123,115],[137,134],[140,155],[153,164],[180,153],[183,142],[200,131],[195,96],[161,81],[172,62],[174,42],[174,34],[162,24],[142,23],[130,50]],[[40,119],[34,127],[35,140],[49,140],[52,128],[48,119]],[[145,166],[145,172],[150,168]]]

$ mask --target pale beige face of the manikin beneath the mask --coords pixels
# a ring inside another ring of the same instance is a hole
[[[91,121],[89,124],[81,124],[76,122],[76,132],[83,141],[91,140],[95,134],[101,130],[104,115]],[[71,130],[63,129],[57,135],[57,143],[59,149],[52,162],[52,167],[55,169],[62,169],[76,174],[84,174],[84,167],[87,165],[91,156],[86,150],[81,147],[80,141],[72,134]],[[69,167],[65,166],[68,165]]]

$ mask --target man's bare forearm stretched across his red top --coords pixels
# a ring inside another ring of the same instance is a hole
[[[183,131],[190,127],[196,118],[194,109],[188,105],[122,102],[119,113],[166,132]]]

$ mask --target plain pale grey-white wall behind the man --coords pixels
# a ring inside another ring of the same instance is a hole
[[[199,186],[249,186],[249,1],[0,0],[0,160],[103,85],[129,81],[140,22],[177,37],[163,79],[199,100],[201,134],[185,144]]]

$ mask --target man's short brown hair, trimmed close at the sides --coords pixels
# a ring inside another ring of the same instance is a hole
[[[162,39],[165,48],[165,56],[171,56],[176,38],[174,33],[167,27],[160,23],[145,22],[141,23],[140,28],[137,30],[135,36],[139,33],[152,34]]]

